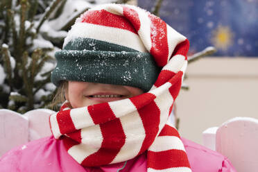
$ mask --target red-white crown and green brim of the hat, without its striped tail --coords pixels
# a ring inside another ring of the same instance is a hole
[[[160,67],[139,37],[132,14],[121,16],[107,10],[88,10],[72,26],[51,80],[78,80],[128,85],[147,92],[157,80]]]

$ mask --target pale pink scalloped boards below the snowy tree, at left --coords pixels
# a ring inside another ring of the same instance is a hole
[[[22,115],[0,110],[0,156],[28,141],[51,135],[49,115],[53,113],[52,110],[38,109]]]

